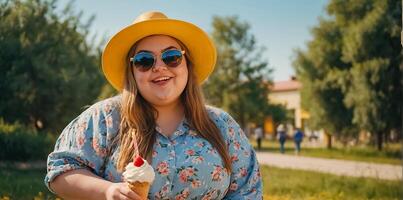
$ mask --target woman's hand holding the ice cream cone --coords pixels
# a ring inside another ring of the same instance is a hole
[[[106,200],[143,200],[127,183],[112,183],[105,191]]]

